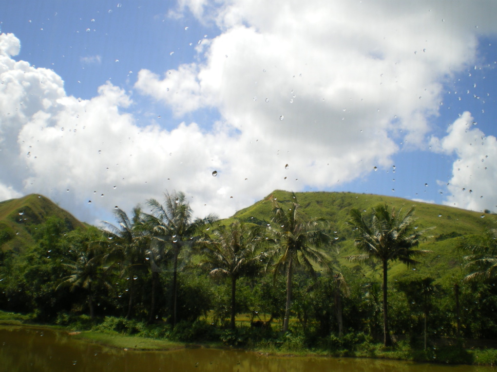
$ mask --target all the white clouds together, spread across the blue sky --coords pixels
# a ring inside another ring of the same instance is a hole
[[[495,7],[181,0],[174,17],[189,11],[221,34],[203,39],[193,62],[142,69],[133,92],[107,82],[88,100],[68,96],[56,72],[15,61],[19,40],[1,34],[0,198],[45,193],[94,222],[176,189],[197,215],[227,217],[275,188],[332,189],[389,168],[399,151],[427,150],[444,84],[477,59],[477,32],[496,31]],[[140,124],[136,92],[172,110],[168,130]],[[184,121],[201,109],[221,120]],[[491,167],[495,138],[466,128],[468,116],[432,142],[466,167],[454,171],[447,202],[479,210],[475,195],[485,208],[495,195],[495,170],[481,168]],[[468,141],[482,136],[472,152]]]

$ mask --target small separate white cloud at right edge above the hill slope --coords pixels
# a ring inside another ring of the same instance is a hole
[[[449,125],[447,135],[431,139],[435,151],[455,154],[445,201],[465,209],[497,210],[497,139],[486,136],[469,112]]]

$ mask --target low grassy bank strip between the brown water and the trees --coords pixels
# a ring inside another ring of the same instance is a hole
[[[497,349],[485,346],[469,347],[470,343],[467,340],[432,340],[426,350],[413,346],[412,340],[411,342],[399,340],[394,347],[385,348],[381,343],[361,338],[361,335],[349,334],[341,339],[330,336],[326,345],[308,348],[303,337],[298,334],[263,338],[257,336],[254,330],[243,327],[237,331],[220,331],[212,328],[212,334],[206,334],[205,329],[200,329],[201,332],[197,329],[196,333],[190,329],[174,333],[174,331],[166,332],[165,324],[146,325],[121,318],[106,318],[91,322],[84,317],[81,319],[83,320],[73,319],[68,324],[47,325],[33,322],[28,315],[0,311],[0,324],[56,329],[66,332],[75,339],[126,351],[235,348],[258,355],[278,357],[353,357],[444,364],[497,365]],[[214,330],[217,333],[214,334]],[[189,340],[185,341],[185,337]]]

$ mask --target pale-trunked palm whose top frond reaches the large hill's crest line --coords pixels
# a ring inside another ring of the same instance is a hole
[[[273,200],[272,221],[278,229],[273,230],[277,242],[270,257],[276,259],[274,274],[286,274],[286,307],[283,318],[283,332],[288,330],[292,304],[292,274],[296,267],[303,267],[313,275],[315,270],[311,261],[319,265],[328,262],[327,253],[316,248],[328,248],[333,239],[324,226],[324,220],[304,221],[300,216],[300,205],[295,194],[288,207],[282,207]]]

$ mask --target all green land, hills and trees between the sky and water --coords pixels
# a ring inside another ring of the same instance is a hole
[[[216,221],[193,218],[186,200],[173,192],[150,200],[151,214],[116,209],[103,230],[37,195],[0,203],[0,309],[74,330],[285,353],[472,363],[466,350],[497,338],[489,214],[274,191]]]

